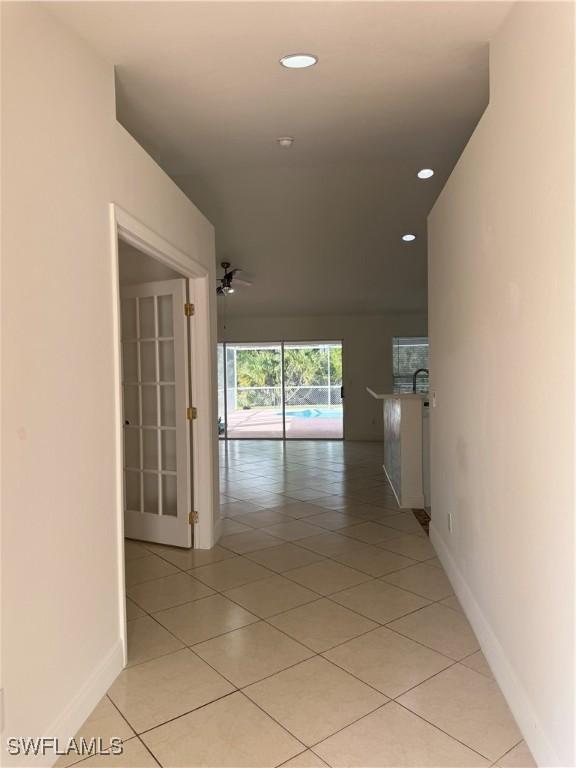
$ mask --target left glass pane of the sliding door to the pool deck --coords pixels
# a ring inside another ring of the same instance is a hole
[[[227,344],[228,437],[282,437],[279,344]]]

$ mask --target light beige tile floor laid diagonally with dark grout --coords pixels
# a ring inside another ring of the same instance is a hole
[[[81,730],[125,752],[80,762],[535,765],[380,446],[222,444],[221,490],[213,550],[126,542],[129,665]]]

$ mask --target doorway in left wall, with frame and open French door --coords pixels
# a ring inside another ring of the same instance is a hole
[[[174,556],[214,545],[212,281],[206,267],[116,204],[110,224],[118,606],[126,665],[126,583],[134,582],[128,561],[146,549],[125,537]],[[197,418],[189,420],[193,412]]]

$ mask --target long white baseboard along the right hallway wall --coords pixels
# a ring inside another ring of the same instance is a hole
[[[508,660],[505,649],[484,616],[442,537],[436,531],[433,519],[430,523],[430,540],[534,759],[542,767],[564,766],[566,768],[548,739],[538,715],[534,712],[529,696]]]

